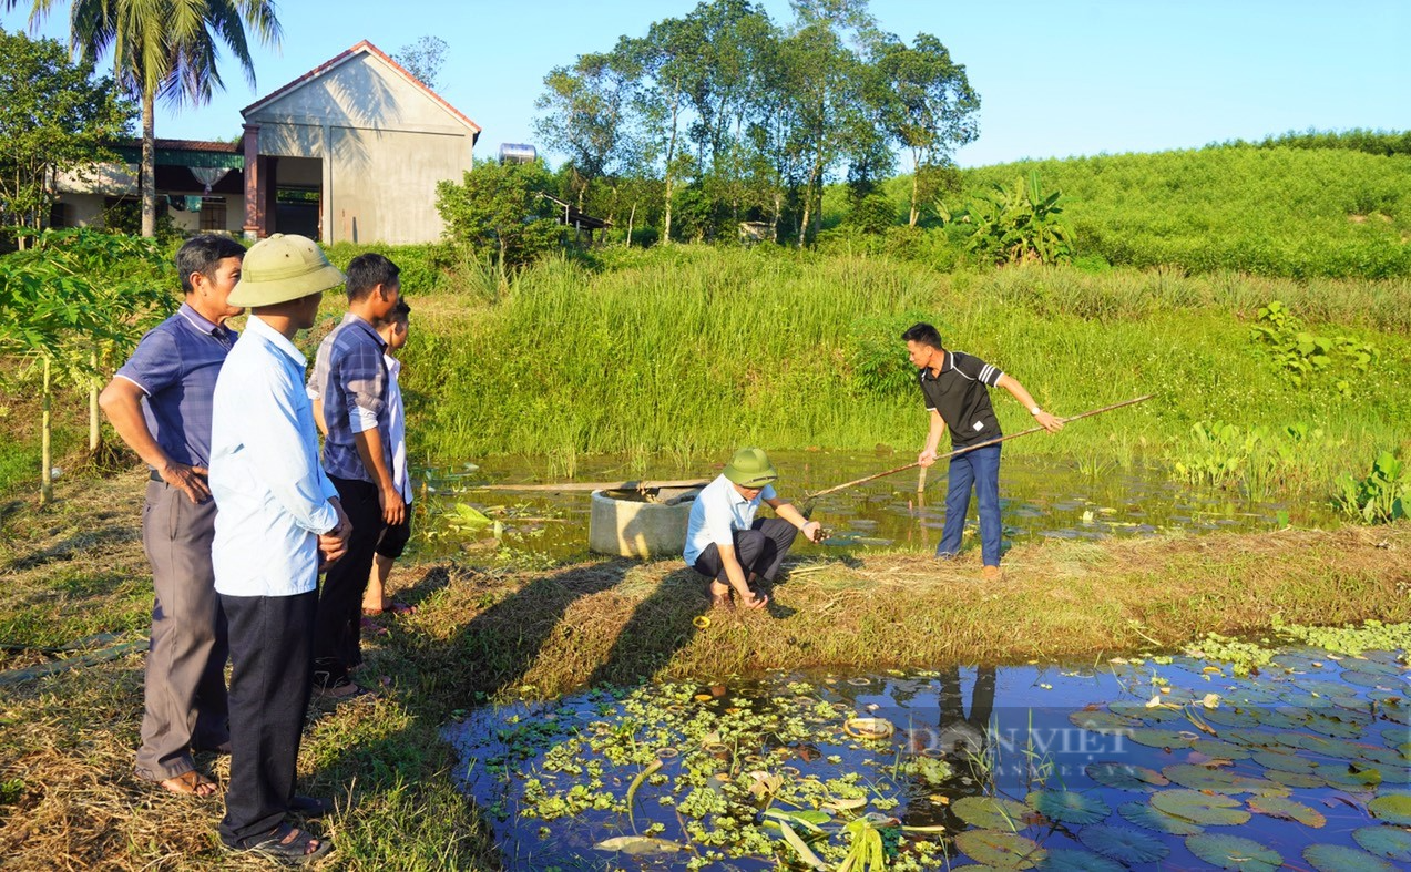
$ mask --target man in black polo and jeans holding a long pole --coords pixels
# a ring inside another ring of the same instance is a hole
[[[947,351],[941,347],[941,334],[927,323],[912,326],[902,334],[916,377],[926,396],[926,409],[931,413],[931,429],[926,436],[926,447],[917,463],[923,467],[935,463],[941,433],[951,430],[951,447],[964,449],[972,444],[999,439],[999,419],[989,402],[989,388],[1005,388],[1015,395],[1034,420],[1050,433],[1062,429],[1062,422],[1044,412],[1029,395],[1024,385],[978,357],[964,351]],[[965,512],[969,511],[971,487],[979,502],[981,557],[985,562],[985,579],[999,579],[999,447],[986,446],[967,452],[951,460],[950,487],[945,492],[945,528],[941,543],[935,549],[938,557],[954,557],[961,550],[961,533],[965,529]]]

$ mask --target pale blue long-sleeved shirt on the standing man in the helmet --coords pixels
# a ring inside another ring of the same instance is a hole
[[[251,315],[216,380],[210,492],[216,593],[289,597],[317,588],[319,533],[337,526],[337,497],[319,464],[303,354]]]

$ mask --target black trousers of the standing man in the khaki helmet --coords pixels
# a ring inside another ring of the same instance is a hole
[[[317,593],[227,597],[230,625],[230,783],[220,841],[258,841],[289,811],[299,737],[309,707]]]

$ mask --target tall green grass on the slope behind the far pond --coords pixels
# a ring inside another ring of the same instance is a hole
[[[1309,325],[1374,344],[1352,396],[1291,388],[1249,341],[1281,298]],[[492,305],[436,296],[406,353],[412,442],[432,459],[532,453],[571,471],[580,453],[639,459],[776,449],[919,449],[926,412],[899,333],[935,323],[947,344],[1020,380],[1058,415],[1156,399],[1010,450],[1079,463],[1178,456],[1201,420],[1324,432],[1300,459],[1331,481],[1401,446],[1411,420],[1405,281],[1188,278],[1072,268],[934,272],[885,258],[677,247],[588,272],[542,264]],[[413,302],[413,306],[416,303]],[[1007,432],[1031,426],[1003,391]]]

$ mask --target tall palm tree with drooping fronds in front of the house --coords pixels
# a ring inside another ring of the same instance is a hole
[[[18,0],[0,0],[14,7]],[[54,8],[34,0],[30,23]],[[279,44],[272,0],[72,0],[69,51],[96,61],[113,51],[113,78],[143,104],[143,236],[157,233],[155,103],[203,106],[224,87],[216,69],[224,44],[251,86],[255,68],[246,30],[261,42]]]

